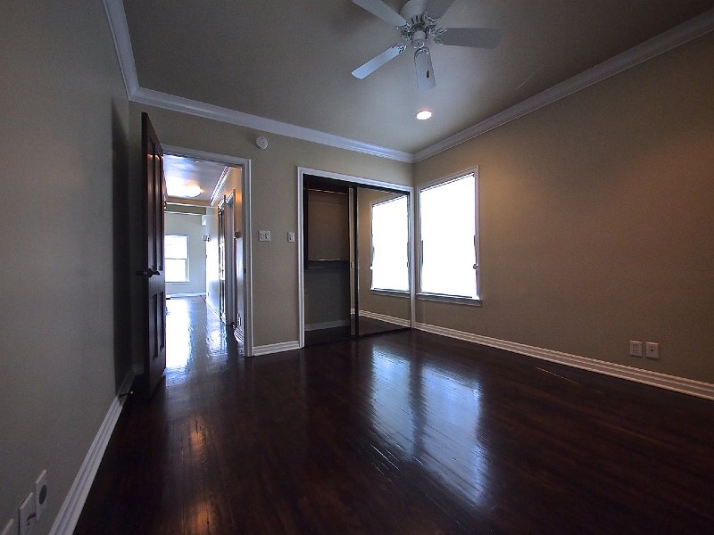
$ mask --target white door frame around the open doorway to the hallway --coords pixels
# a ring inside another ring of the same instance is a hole
[[[244,310],[244,347],[245,356],[253,356],[253,232],[252,232],[252,216],[251,216],[251,161],[247,158],[238,158],[236,156],[228,156],[226,154],[217,154],[215,152],[198,151],[187,147],[179,147],[175,145],[162,145],[164,154],[173,154],[175,156],[185,156],[187,158],[195,158],[196,160],[208,160],[216,163],[222,163],[228,167],[237,167],[242,169],[243,177],[243,265],[245,268],[245,310]],[[235,206],[234,206],[235,210]],[[230,236],[230,243],[233,243],[233,235]],[[230,247],[231,251],[233,247]],[[234,284],[235,287],[235,284]]]

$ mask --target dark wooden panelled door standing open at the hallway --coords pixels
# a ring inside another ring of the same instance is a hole
[[[166,185],[163,151],[149,116],[141,114],[142,173],[144,179],[145,328],[147,344],[144,373],[151,395],[166,368],[166,278],[164,276],[163,208]]]

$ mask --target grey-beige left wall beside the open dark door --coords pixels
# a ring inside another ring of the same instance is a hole
[[[128,104],[101,2],[2,12],[0,525],[46,468],[42,535],[129,370]]]

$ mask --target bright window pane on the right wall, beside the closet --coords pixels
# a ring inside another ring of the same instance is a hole
[[[419,292],[478,299],[477,171],[419,191]]]

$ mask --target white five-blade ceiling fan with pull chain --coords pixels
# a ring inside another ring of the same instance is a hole
[[[414,66],[417,70],[419,91],[436,86],[431,56],[427,46],[432,39],[440,45],[495,48],[501,42],[502,29],[494,28],[436,28],[439,20],[453,0],[409,0],[399,12],[395,12],[382,0],[352,0],[399,30],[402,42],[387,48],[383,53],[352,71],[355,78],[366,78],[379,67],[394,60],[409,45],[414,47]]]

